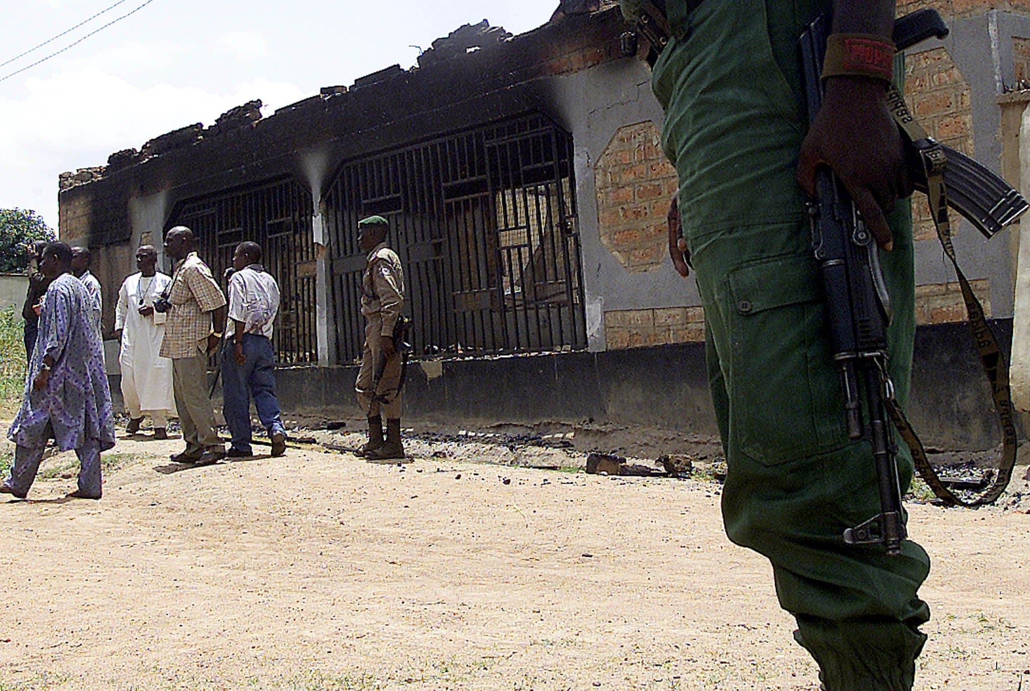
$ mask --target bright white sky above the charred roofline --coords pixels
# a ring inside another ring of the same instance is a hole
[[[5,0],[0,63],[116,0]],[[0,67],[0,78],[143,4],[126,0]],[[399,63],[483,19],[518,34],[558,0],[152,0],[65,53],[0,81],[0,208],[34,209],[58,228],[58,175],[101,166],[253,99],[263,112]]]

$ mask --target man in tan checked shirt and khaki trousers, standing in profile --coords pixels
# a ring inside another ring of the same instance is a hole
[[[226,457],[207,393],[207,358],[225,331],[226,296],[194,250],[188,228],[176,226],[168,232],[165,252],[175,262],[175,271],[168,288],[171,308],[161,355],[172,359],[172,389],[186,443],[172,460],[209,465]]]

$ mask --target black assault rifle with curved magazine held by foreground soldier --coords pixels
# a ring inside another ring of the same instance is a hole
[[[828,15],[820,16],[800,38],[810,123],[822,104],[820,73],[829,25]],[[947,35],[948,27],[936,10],[923,9],[898,19],[893,38],[897,49],[903,50],[925,39]],[[1028,208],[1026,200],[997,175],[927,137],[915,125],[896,90],[891,91],[889,102],[904,134],[909,173],[916,188],[930,197],[935,222],[947,228],[947,206],[951,206],[990,238]],[[881,512],[846,529],[844,540],[852,545],[882,544],[887,554],[897,555],[906,533],[892,422],[906,442],[911,427],[894,399],[888,372],[887,326],[891,321],[891,303],[880,267],[880,249],[847,191],[826,167],[816,177],[816,199],[810,204],[810,217],[813,249],[823,279],[833,359],[840,371],[848,435],[853,440],[870,443],[880,491]],[[946,242],[946,250],[949,250],[950,234],[942,234],[941,241]],[[954,260],[954,251],[950,255]],[[971,290],[969,293],[971,297]],[[918,445],[915,435],[911,437]],[[921,472],[923,465],[929,469],[921,445],[918,454],[914,449],[914,456],[917,455],[921,457],[917,458]],[[934,491],[938,491],[936,487]]]

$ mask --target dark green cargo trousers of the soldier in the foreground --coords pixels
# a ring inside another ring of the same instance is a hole
[[[632,0],[623,0],[631,2]],[[844,543],[879,513],[867,442],[848,439],[825,337],[804,199],[796,38],[828,2],[666,0],[677,37],[654,68],[662,144],[708,320],[710,380],[728,474],[726,532],[772,563],[777,595],[829,691],[911,689],[929,609],[929,558]],[[908,394],[915,333],[912,220],[891,214],[884,271],[895,316],[890,371]],[[911,457],[898,458],[902,488]]]

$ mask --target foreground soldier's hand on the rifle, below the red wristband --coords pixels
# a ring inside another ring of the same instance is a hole
[[[826,80],[823,105],[801,144],[797,181],[815,195],[816,169],[829,166],[877,242],[893,247],[886,213],[912,194],[901,132],[887,108],[884,82],[870,77]]]

